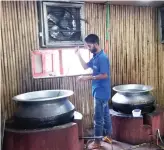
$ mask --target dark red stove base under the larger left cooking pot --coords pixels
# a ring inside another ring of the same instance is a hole
[[[74,122],[40,130],[5,131],[4,150],[82,150],[82,115],[75,112]]]

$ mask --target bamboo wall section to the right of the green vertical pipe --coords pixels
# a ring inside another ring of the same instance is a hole
[[[152,85],[157,103],[164,106],[164,44],[158,38],[157,9],[111,6],[110,22],[113,85]]]

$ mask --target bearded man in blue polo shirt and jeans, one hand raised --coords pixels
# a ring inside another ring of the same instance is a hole
[[[85,38],[87,49],[93,58],[86,63],[81,57],[79,49],[76,54],[84,69],[91,68],[92,76],[80,76],[78,81],[92,80],[92,96],[94,98],[94,136],[105,136],[104,141],[112,143],[112,122],[109,113],[108,101],[111,98],[110,64],[107,55],[99,45],[99,37],[90,34]],[[92,149],[100,148],[101,141],[95,139]]]

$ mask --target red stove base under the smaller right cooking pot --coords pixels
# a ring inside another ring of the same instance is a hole
[[[134,118],[114,110],[111,111],[113,138],[129,144],[141,144],[155,139],[157,129],[164,136],[164,109]]]

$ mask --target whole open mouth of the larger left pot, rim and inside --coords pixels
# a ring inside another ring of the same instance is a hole
[[[12,99],[19,102],[38,102],[67,98],[72,95],[71,90],[42,90],[20,94]]]

